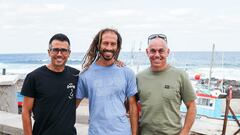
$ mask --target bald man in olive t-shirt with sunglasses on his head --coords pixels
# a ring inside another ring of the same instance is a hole
[[[137,75],[141,135],[188,135],[194,122],[196,95],[187,73],[167,63],[169,52],[165,35],[149,36],[146,53],[151,65]],[[187,107],[183,126],[182,101]]]

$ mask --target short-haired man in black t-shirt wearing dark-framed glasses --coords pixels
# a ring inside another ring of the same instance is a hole
[[[26,76],[21,91],[24,135],[76,135],[75,95],[79,71],[65,65],[70,52],[68,37],[54,35],[49,41],[50,63]]]

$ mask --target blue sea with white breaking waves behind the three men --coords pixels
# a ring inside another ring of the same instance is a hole
[[[67,65],[81,70],[85,53],[71,53]],[[119,60],[123,61],[137,74],[149,67],[150,62],[145,52],[121,52]],[[0,70],[6,74],[26,75],[34,69],[50,62],[47,53],[0,54]],[[185,70],[190,78],[199,74],[208,78],[240,80],[240,52],[171,52],[168,57],[170,65]],[[212,63],[212,64],[211,64]],[[2,74],[2,73],[1,73]]]

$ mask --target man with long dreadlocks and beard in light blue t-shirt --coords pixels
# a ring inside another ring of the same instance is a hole
[[[121,44],[116,30],[102,29],[83,58],[76,98],[77,106],[83,98],[89,99],[89,135],[137,135],[136,77],[126,66],[114,64]],[[125,100],[129,102],[130,122]]]

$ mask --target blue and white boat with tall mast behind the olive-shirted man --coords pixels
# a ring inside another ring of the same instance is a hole
[[[191,131],[197,134],[206,135],[233,135],[240,131],[240,96],[238,96],[240,95],[240,90],[234,89],[233,92],[235,94],[232,94],[233,96],[230,100],[230,106],[234,115],[231,113],[226,114],[226,106],[228,105],[228,102],[226,101],[229,96],[227,92],[230,92],[230,88],[232,91],[232,87],[230,87],[231,83],[225,83],[223,86],[223,79],[211,77],[212,64],[214,60],[214,48],[215,45],[213,45],[209,79],[200,79],[198,74],[194,77],[195,80],[192,80],[193,88],[197,96],[197,114]],[[229,82],[227,80],[225,81]],[[181,105],[180,111],[182,120],[184,121],[187,112],[184,104]],[[226,118],[228,121],[226,121]],[[224,123],[226,127],[224,127]]]

